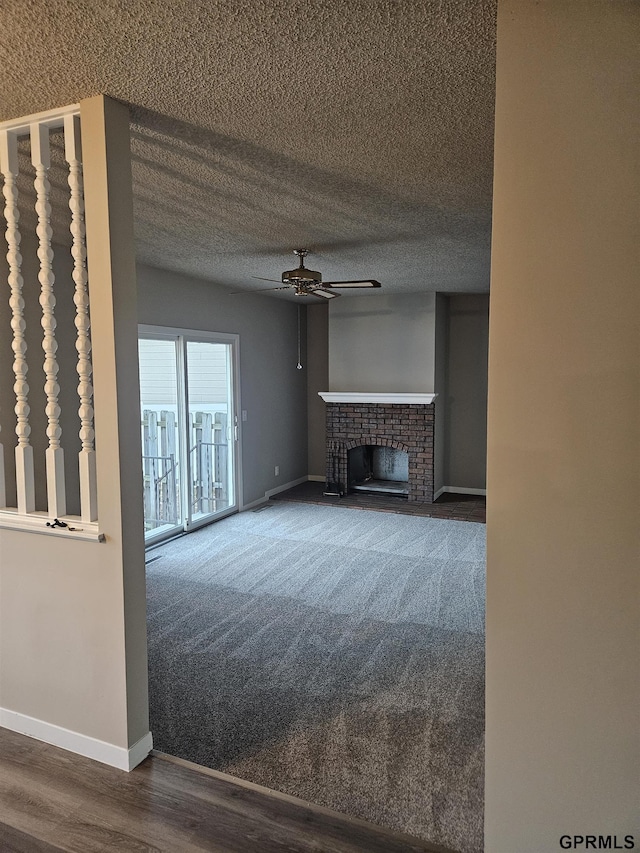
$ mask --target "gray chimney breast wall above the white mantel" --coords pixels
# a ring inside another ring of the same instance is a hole
[[[329,391],[433,392],[435,293],[378,290],[329,303]]]

